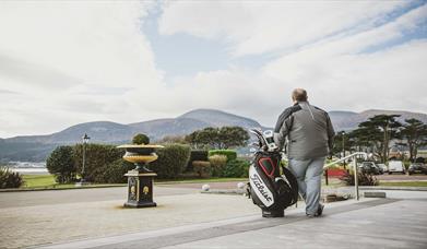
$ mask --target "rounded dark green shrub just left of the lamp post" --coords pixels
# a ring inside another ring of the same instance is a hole
[[[46,161],[46,167],[59,183],[75,180],[74,153],[71,146],[58,146]]]

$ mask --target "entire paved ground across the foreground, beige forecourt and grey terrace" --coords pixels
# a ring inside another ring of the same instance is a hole
[[[153,209],[122,209],[126,188],[2,192],[0,248],[275,248],[276,244],[259,247],[266,238],[294,247],[288,242],[299,241],[309,248],[311,240],[320,246],[331,241],[330,248],[343,248],[344,241],[347,248],[365,237],[370,242],[360,247],[383,248],[395,237],[395,247],[427,248],[419,235],[427,234],[427,191],[387,194],[412,199],[331,203],[327,216],[315,220],[307,220],[299,204],[286,210],[285,218],[265,220],[245,197],[201,194],[199,189],[176,186],[156,186],[158,206]]]

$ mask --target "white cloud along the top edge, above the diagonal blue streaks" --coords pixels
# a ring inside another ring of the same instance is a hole
[[[289,50],[333,36],[366,29],[405,1],[353,2],[169,2],[159,32],[225,39],[235,56]]]

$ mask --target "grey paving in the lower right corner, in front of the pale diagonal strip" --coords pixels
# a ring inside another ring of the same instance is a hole
[[[427,201],[402,200],[163,249],[427,248]],[[138,244],[133,246],[138,247]],[[112,248],[112,247],[111,247]],[[115,247],[121,248],[121,247]],[[153,247],[154,248],[154,247]],[[155,247],[157,248],[157,247]]]

